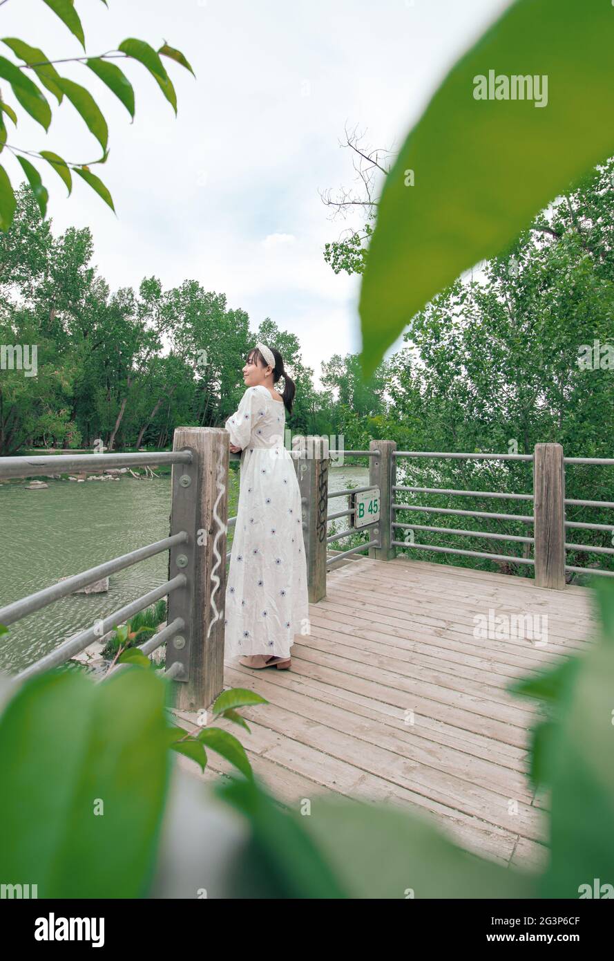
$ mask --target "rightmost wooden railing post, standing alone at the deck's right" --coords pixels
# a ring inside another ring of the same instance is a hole
[[[565,466],[560,444],[535,444],[533,453],[535,584],[565,586]]]

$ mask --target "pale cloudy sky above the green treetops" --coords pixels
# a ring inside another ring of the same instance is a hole
[[[186,56],[196,80],[165,61],[177,90],[176,117],[148,71],[121,62],[135,89],[131,123],[87,67],[59,64],[106,116],[108,160],[92,169],[109,188],[117,216],[80,178],[67,198],[41,161],[54,233],[88,226],[92,262],[111,290],[138,290],[152,276],[164,289],[197,280],[224,293],[228,307],[247,310],[254,333],[271,317],[296,334],[319,385],[323,360],[361,348],[360,280],[336,275],[323,259],[326,242],[361,224],[331,220],[319,195],[354,183],[350,152],[340,147],[344,130],[358,127],[364,145],[398,150],[454,62],[507,6],[508,0],[108,0],[107,10],[102,0],[75,0],[89,56],[115,50],[126,37],[154,49],[166,40]],[[40,47],[50,60],[83,56],[43,0],[0,5],[0,31]],[[53,150],[69,162],[98,159],[100,146],[77,111],[46,95],[55,104],[48,134],[20,111],[9,142]],[[5,159],[16,187],[23,171],[8,151]]]

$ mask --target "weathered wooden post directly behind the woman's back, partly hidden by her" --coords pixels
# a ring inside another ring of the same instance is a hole
[[[326,596],[326,515],[328,513],[328,438],[309,435],[300,445],[295,468],[303,507],[303,537],[310,604]]]

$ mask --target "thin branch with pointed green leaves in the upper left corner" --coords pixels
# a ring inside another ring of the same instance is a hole
[[[6,2],[7,0],[2,0],[2,3]],[[50,10],[57,13],[71,34],[79,39],[83,51],[85,51],[83,26],[75,9],[74,0],[42,0],[42,2]],[[106,6],[106,0],[103,0],[103,3]],[[132,119],[134,118],[134,89],[122,69],[111,61],[132,60],[141,63],[153,76],[164,97],[176,113],[177,94],[161,58],[165,57],[179,63],[189,70],[193,76],[196,76],[194,70],[183,54],[169,46],[166,41],[155,51],[145,40],[128,37],[118,45],[116,50],[108,50],[106,53],[96,56],[85,54],[84,57],[67,57],[53,61],[49,60],[42,50],[16,37],[3,37],[2,42],[9,48],[14,59],[10,60],[7,57],[0,56],[0,80],[6,81],[10,86],[12,96],[19,107],[29,113],[46,133],[52,120],[52,109],[41,90],[41,86],[45,87],[57,99],[58,105],[65,97],[78,111],[87,129],[98,140],[103,150],[103,156],[98,160],[75,163],[63,160],[57,153],[50,150],[40,150],[38,152],[23,150],[16,144],[9,143],[7,118],[16,128],[19,113],[15,104],[6,101],[3,91],[0,89],[0,153],[7,150],[19,162],[34,191],[36,203],[42,216],[46,215],[49,192],[43,185],[40,173],[31,158],[43,160],[44,163],[49,164],[63,181],[69,194],[72,190],[72,173],[78,174],[114,210],[113,201],[106,186],[90,170],[90,166],[93,164],[105,163],[108,156],[106,119],[89,90],[81,84],[76,84],[74,81],[62,77],[56,68],[56,64],[83,63],[83,66],[95,74],[118,97]],[[35,83],[33,75],[38,84]],[[11,227],[15,208],[15,194],[9,175],[4,166],[0,164],[0,231],[6,232]]]

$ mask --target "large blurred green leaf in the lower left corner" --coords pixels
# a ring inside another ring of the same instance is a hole
[[[164,700],[150,671],[21,686],[0,718],[0,877],[38,898],[146,897],[171,768]]]

